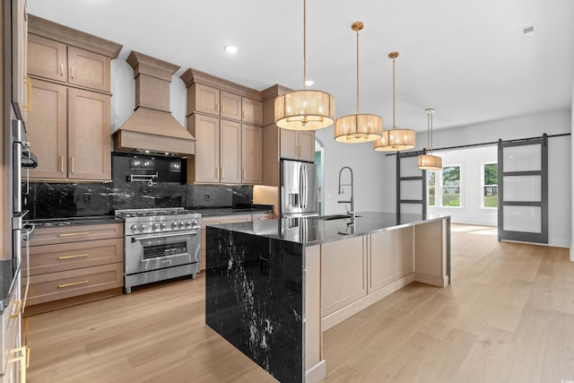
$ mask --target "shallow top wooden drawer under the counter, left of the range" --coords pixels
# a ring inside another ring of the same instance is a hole
[[[79,242],[92,239],[124,237],[123,223],[77,225],[57,228],[39,228],[30,238],[30,247],[56,243]]]

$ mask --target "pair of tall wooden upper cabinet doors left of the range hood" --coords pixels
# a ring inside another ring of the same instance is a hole
[[[110,180],[110,96],[35,78],[31,84],[28,138],[39,166],[30,178]]]

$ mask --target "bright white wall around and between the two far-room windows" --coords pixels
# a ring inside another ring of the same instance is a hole
[[[482,206],[482,168],[484,163],[497,162],[496,145],[477,146],[448,152],[434,152],[442,158],[442,166],[461,167],[461,207],[427,207],[428,213],[448,214],[453,223],[472,223],[496,226],[498,210]]]

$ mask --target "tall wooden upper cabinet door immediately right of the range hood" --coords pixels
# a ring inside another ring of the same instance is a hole
[[[191,120],[191,121],[190,121]],[[187,119],[190,133],[196,137],[194,182],[219,182],[219,118],[194,115]]]

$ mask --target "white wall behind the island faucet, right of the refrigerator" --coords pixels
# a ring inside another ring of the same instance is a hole
[[[317,140],[325,148],[323,165],[325,173],[324,213],[345,213],[345,205],[337,204],[339,200],[348,200],[350,187],[344,187],[344,195],[339,196],[337,186],[339,170],[344,166],[352,169],[354,181],[355,211],[383,211],[384,186],[389,182],[380,169],[383,154],[375,152],[372,143],[341,144],[335,141],[333,127],[317,130]],[[390,182],[395,183],[395,179]],[[344,171],[343,183],[349,183],[349,173]]]

